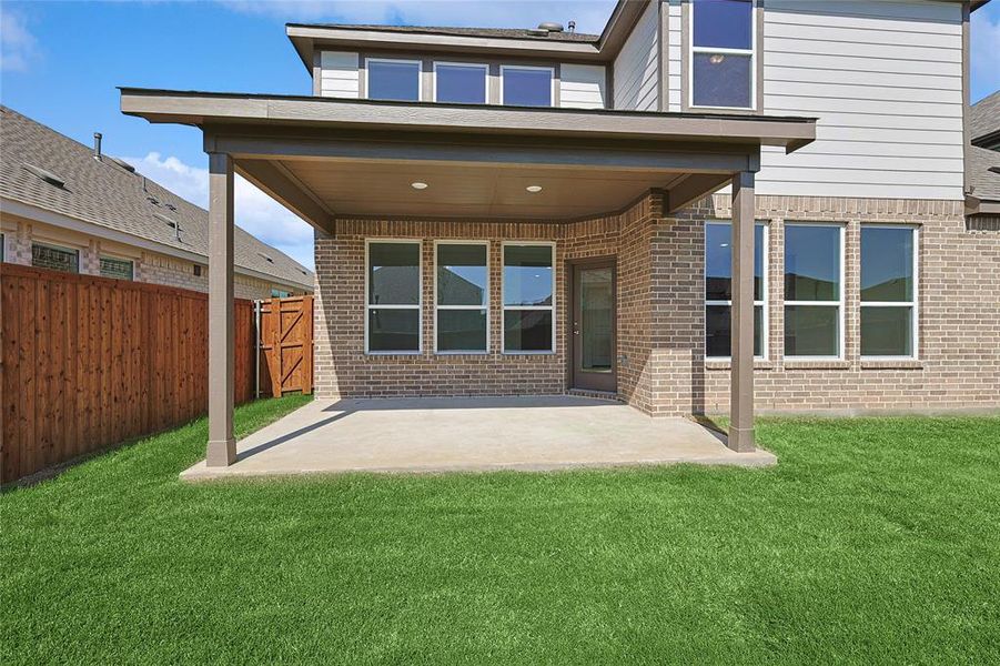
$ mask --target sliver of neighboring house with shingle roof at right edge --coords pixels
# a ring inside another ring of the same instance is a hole
[[[969,228],[1000,231],[1000,92],[970,109],[973,145],[966,151],[966,214]]]

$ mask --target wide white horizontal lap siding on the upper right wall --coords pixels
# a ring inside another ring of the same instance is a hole
[[[765,147],[760,194],[962,198],[961,4],[768,0],[764,107],[815,143]]]

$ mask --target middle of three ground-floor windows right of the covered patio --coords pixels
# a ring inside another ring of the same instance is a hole
[[[844,228],[785,225],[785,355],[839,359]]]

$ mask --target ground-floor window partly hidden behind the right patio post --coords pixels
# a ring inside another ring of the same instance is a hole
[[[728,359],[733,314],[733,225],[705,224],[705,354]],[[754,355],[767,344],[767,228],[754,226]]]

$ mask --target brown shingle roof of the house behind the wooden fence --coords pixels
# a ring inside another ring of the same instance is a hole
[[[52,185],[26,165],[50,171],[65,184]],[[107,155],[94,160],[90,148],[2,105],[0,195],[201,256],[209,254],[208,211]],[[180,224],[180,234],[171,223]],[[238,272],[252,270],[313,289],[311,271],[239,226],[233,245]]]

